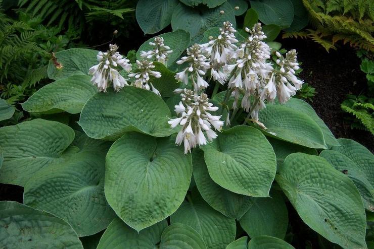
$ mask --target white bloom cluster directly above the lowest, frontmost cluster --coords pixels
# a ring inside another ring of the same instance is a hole
[[[205,73],[210,68],[207,60],[208,59],[203,54],[199,44],[194,44],[193,46],[187,48],[187,56],[181,57],[176,63],[178,65],[189,63],[189,66],[182,72],[177,73],[175,75],[175,79],[182,81],[185,85],[189,83],[190,79],[196,93],[204,88],[207,88],[209,86],[208,82],[203,79]]]

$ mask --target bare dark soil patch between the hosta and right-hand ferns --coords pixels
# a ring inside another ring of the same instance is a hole
[[[313,86],[316,95],[313,106],[336,138],[353,139],[374,151],[374,137],[367,131],[351,129],[340,104],[347,94],[358,95],[367,91],[365,74],[360,70],[360,59],[348,45],[338,50],[326,50],[311,40],[279,40],[286,49],[295,48],[303,71],[300,78]]]

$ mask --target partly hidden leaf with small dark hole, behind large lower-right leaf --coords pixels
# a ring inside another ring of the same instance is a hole
[[[368,175],[365,174],[365,171],[363,171],[360,166],[351,159],[338,151],[324,150],[321,152],[320,156],[326,159],[334,168],[346,174],[353,180],[358,192],[360,192],[365,208],[373,212],[374,188],[368,179]]]

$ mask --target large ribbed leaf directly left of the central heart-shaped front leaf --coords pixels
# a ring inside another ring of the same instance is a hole
[[[105,154],[83,151],[36,173],[24,203],[66,220],[79,236],[95,234],[115,217],[104,196]]]

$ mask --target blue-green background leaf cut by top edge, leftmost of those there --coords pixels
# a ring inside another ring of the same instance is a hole
[[[154,34],[168,26],[178,0],[139,0],[136,20],[145,34]]]

